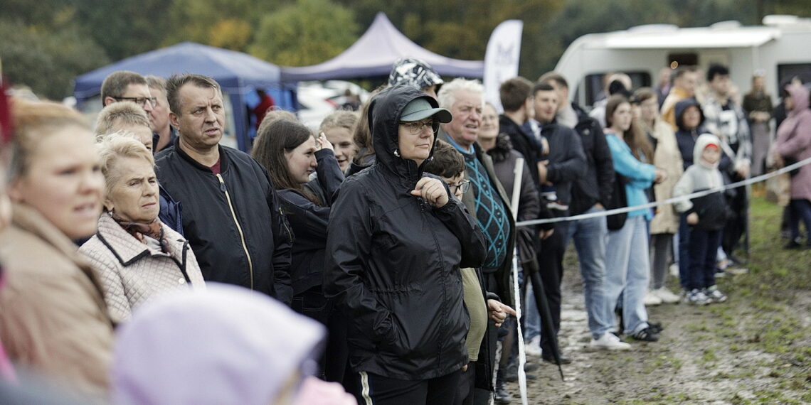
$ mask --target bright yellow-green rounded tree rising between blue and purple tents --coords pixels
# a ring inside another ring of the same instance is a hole
[[[357,39],[350,9],[328,0],[297,0],[264,16],[248,51],[278,65],[306,66],[337,56]]]

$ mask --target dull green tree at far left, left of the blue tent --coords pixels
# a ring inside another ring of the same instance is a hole
[[[0,19],[0,38],[3,75],[54,100],[72,93],[75,76],[109,63],[104,49],[77,28],[48,32]]]

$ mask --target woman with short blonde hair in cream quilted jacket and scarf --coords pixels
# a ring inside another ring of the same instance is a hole
[[[189,242],[157,217],[152,153],[124,135],[101,143],[100,153],[105,214],[79,251],[101,279],[110,312],[127,320],[135,305],[161,292],[204,288]]]

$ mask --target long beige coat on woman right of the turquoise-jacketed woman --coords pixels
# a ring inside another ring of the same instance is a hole
[[[646,129],[648,130],[648,129]],[[676,143],[676,135],[671,127],[661,119],[654,122],[653,130],[648,130],[650,136],[656,139],[656,151],[654,151],[654,166],[663,169],[667,173],[667,178],[661,183],[654,185],[656,201],[671,198],[673,186],[679,181],[681,173],[684,172],[681,161],[681,152]],[[679,231],[679,214],[673,204],[656,207],[654,219],[650,220],[650,233],[676,233]]]

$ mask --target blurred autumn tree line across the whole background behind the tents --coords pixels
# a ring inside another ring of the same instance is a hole
[[[469,60],[484,58],[498,23],[521,19],[519,73],[529,79],[590,32],[811,16],[805,0],[0,0],[0,60],[11,82],[58,100],[71,95],[76,75],[185,40],[281,66],[324,62],[352,45],[378,11],[419,45]]]

